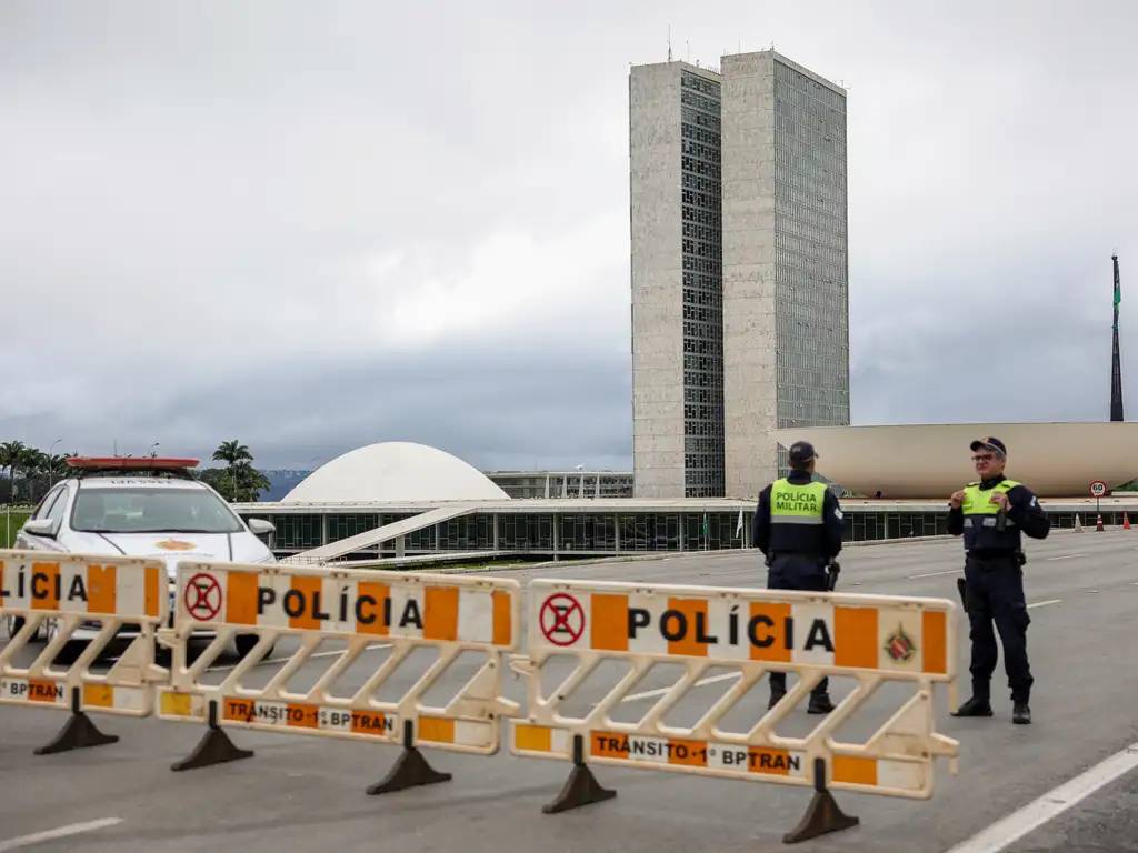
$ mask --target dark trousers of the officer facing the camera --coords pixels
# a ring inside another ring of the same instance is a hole
[[[972,637],[972,695],[987,699],[999,652],[996,631],[1004,644],[1004,669],[1013,702],[1031,696],[1031,668],[1028,665],[1028,603],[1023,597],[1023,569],[1015,555],[964,561],[967,582],[968,624]],[[992,630],[992,624],[996,631]]]

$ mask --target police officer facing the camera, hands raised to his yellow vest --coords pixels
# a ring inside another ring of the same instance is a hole
[[[992,622],[1004,644],[1004,669],[1012,688],[1012,721],[1031,722],[1031,669],[1028,665],[1028,604],[1023,597],[1021,533],[1044,539],[1047,513],[1023,483],[1004,477],[1007,448],[998,438],[973,441],[979,482],[949,500],[948,532],[964,535],[965,601],[972,637],[972,698],[954,717],[991,717],[989,686],[998,651]]]

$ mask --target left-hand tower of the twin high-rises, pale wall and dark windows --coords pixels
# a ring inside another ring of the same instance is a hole
[[[723,495],[719,75],[628,81],[637,497]]]

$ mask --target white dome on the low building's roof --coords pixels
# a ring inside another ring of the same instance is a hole
[[[501,500],[509,498],[481,471],[436,447],[382,441],[337,456],[288,495],[294,503]]]

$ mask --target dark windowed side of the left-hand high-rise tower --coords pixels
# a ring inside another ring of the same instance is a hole
[[[684,71],[684,496],[724,494],[723,191],[719,83]]]

